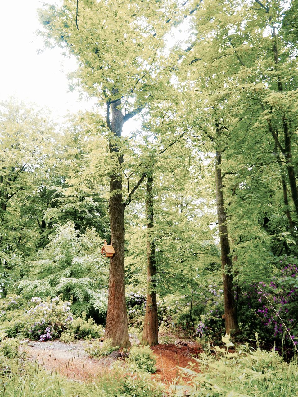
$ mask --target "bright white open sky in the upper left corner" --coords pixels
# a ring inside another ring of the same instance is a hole
[[[48,107],[58,117],[90,108],[91,102],[79,102],[78,93],[68,92],[65,72],[75,69],[75,60],[63,56],[59,48],[37,54],[43,48],[35,34],[41,27],[39,7],[39,0],[1,2],[0,100],[15,96]]]

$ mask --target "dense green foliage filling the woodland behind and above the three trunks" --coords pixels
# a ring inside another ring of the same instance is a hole
[[[45,5],[42,35],[49,46],[71,48],[79,62],[72,84],[98,98],[98,111],[56,125],[33,104],[10,99],[0,108],[2,331],[38,340],[103,335],[109,262],[100,251],[110,239],[108,185],[116,169],[130,204],[124,247],[130,326],[143,326],[149,238],[161,328],[220,338],[220,155],[240,324],[233,336],[248,340],[257,332],[267,347],[292,347],[298,341],[296,2],[168,1],[145,8],[134,2],[137,14],[126,1],[80,3],[77,19],[74,1]],[[187,37],[171,46],[171,29],[186,18]],[[129,135],[116,137],[108,128],[113,98],[138,120]],[[148,170],[149,234],[142,179]]]

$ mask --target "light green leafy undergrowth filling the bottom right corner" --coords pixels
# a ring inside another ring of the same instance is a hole
[[[197,374],[184,368],[191,377],[191,386],[181,387],[179,394],[195,396],[285,396],[298,392],[298,367],[295,361],[287,364],[275,351],[252,351],[240,346],[236,352],[230,352],[230,335],[223,337],[225,348],[215,347],[216,355],[203,354],[196,358],[203,368]]]

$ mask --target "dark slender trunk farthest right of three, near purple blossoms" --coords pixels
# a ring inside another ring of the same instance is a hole
[[[232,258],[228,239],[228,228],[226,226],[226,211],[223,200],[223,182],[221,177],[221,153],[216,153],[215,160],[215,187],[217,217],[219,226],[219,238],[221,245],[221,266],[223,269],[223,294],[224,314],[226,320],[226,333],[233,334],[239,331],[236,303],[234,297],[234,285],[232,274]]]

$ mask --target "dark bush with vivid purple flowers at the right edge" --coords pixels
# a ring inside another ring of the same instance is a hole
[[[298,343],[298,264],[297,259],[279,259],[275,276],[269,281],[244,283],[238,298],[238,318],[246,335],[257,331],[261,339],[277,349],[292,349]],[[276,314],[275,310],[279,314]],[[285,330],[280,317],[286,324]]]

